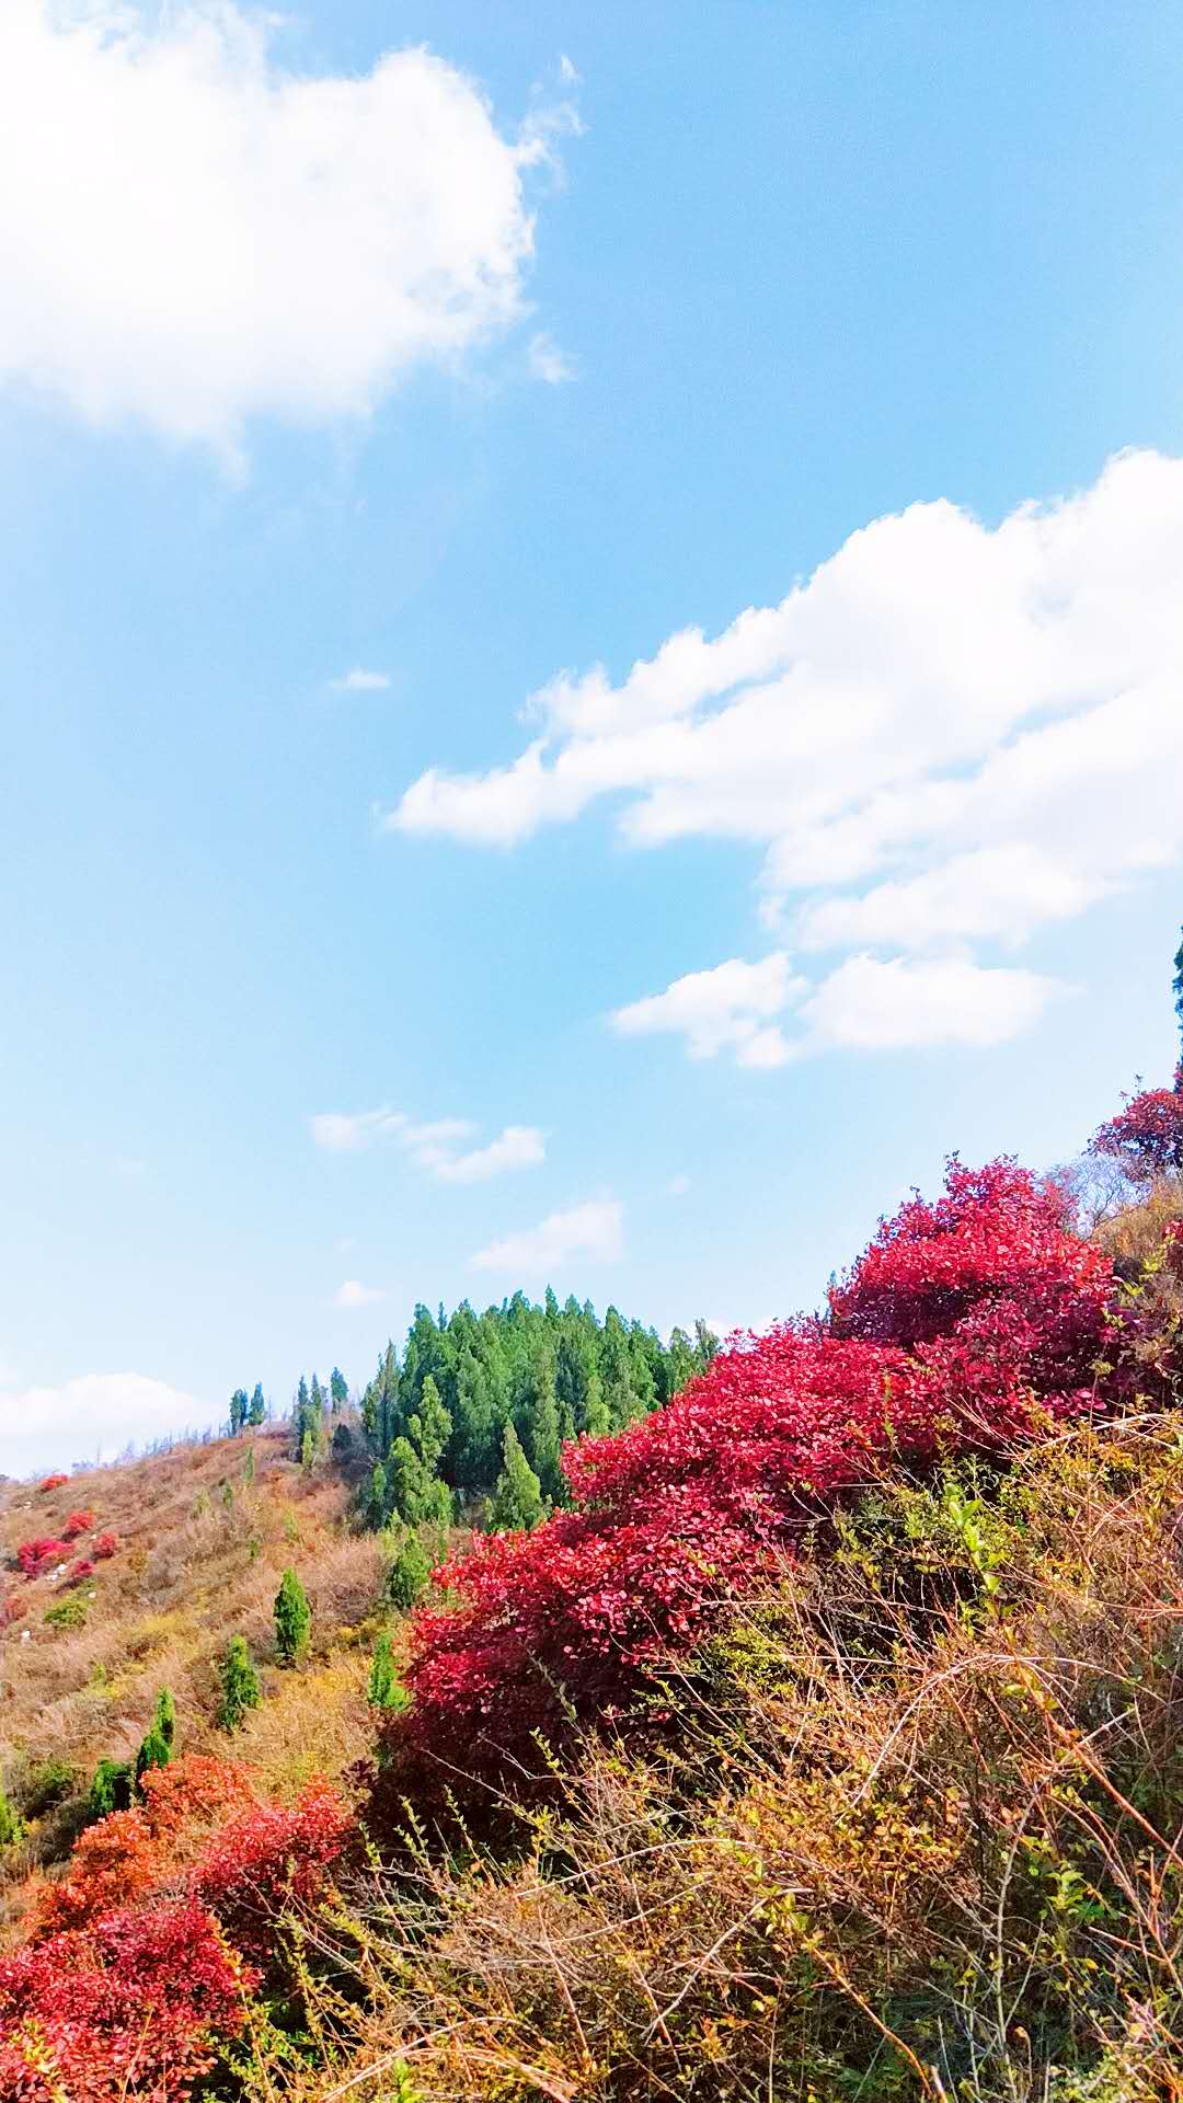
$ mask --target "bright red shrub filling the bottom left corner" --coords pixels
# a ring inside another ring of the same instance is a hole
[[[0,1958],[0,2099],[183,2103],[250,1983],[196,1899],[29,1943]]]

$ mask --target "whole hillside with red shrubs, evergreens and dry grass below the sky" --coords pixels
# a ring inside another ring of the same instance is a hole
[[[0,2097],[1181,2103],[1183,1087],[1147,1102],[1090,1232],[1080,1178],[954,1161],[823,1316],[629,1373],[558,1478],[522,1369],[566,1338],[602,1396],[650,1346],[512,1302],[356,1417],[314,1384],[8,1491]]]

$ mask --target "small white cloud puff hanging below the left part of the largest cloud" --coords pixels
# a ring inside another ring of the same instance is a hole
[[[760,963],[730,957],[711,972],[688,972],[665,993],[617,1007],[613,1028],[621,1037],[655,1037],[663,1030],[684,1037],[690,1058],[716,1058],[735,1052],[741,1066],[783,1066],[791,1047],[773,1020],[802,993],[804,978],[794,978],[789,959],[775,951]]]

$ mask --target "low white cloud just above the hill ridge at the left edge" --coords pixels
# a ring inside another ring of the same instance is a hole
[[[145,1373],[80,1373],[59,1388],[0,1394],[4,1474],[114,1459],[126,1445],[204,1430],[217,1411]]]

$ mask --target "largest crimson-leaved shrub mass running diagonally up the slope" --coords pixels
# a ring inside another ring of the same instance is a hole
[[[827,1323],[749,1338],[667,1409],[568,1447],[577,1510],[438,1573],[459,1605],[415,1621],[415,1706],[385,1724],[379,1823],[410,1777],[455,1779],[440,1756],[503,1779],[539,1764],[533,1731],[625,1710],[884,1464],[1002,1451],[1090,1409],[1111,1287],[1057,1190],[1004,1161],[954,1161],[935,1205],[916,1197],[880,1228]]]

